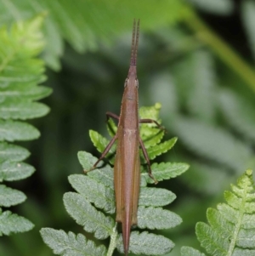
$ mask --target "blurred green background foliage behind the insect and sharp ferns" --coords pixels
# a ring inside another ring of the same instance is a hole
[[[20,143],[37,172],[11,186],[26,193],[13,209],[36,227],[1,237],[0,255],[53,255],[42,227],[83,230],[65,212],[69,174],[82,174],[77,151],[99,153],[88,130],[107,135],[105,111],[120,111],[129,65],[133,18],[139,18],[139,105],[161,102],[167,138],[178,143],[156,162],[190,169],[162,182],[177,195],[169,207],[184,220],[160,233],[179,247],[197,247],[195,223],[222,202],[224,190],[254,167],[255,2],[252,0],[68,1],[0,0],[0,25],[48,11],[43,31],[47,117],[32,121],[40,139]],[[88,235],[88,237],[92,237]],[[117,253],[116,253],[117,255]]]

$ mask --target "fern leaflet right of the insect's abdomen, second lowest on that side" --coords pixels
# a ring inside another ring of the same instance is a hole
[[[180,225],[182,219],[176,214],[162,208],[144,208],[138,209],[138,226],[141,229],[162,230],[170,229]]]

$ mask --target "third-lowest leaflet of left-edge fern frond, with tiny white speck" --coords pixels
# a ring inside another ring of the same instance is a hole
[[[26,179],[35,172],[35,168],[25,162],[0,163],[0,181],[14,181]]]

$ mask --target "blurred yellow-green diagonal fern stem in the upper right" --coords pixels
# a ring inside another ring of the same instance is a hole
[[[185,16],[185,23],[196,32],[202,42],[207,43],[218,57],[224,61],[236,74],[238,74],[255,93],[255,71],[245,60],[239,56],[234,49],[230,48],[216,33],[214,33],[195,14],[192,9],[188,9]]]

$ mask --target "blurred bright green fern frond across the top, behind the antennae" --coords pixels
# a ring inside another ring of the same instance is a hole
[[[158,3],[146,1],[116,2],[114,6],[107,1],[77,2],[14,0],[0,2],[0,25],[7,22],[27,19],[43,11],[48,12],[44,31],[47,46],[43,54],[55,70],[59,69],[59,57],[64,51],[64,39],[78,52],[94,50],[99,42],[109,43],[112,38],[130,28],[130,20],[139,17],[143,20],[144,29],[161,24],[173,24],[182,18],[181,9],[184,3],[178,0],[163,0]],[[165,14],[162,14],[162,12]],[[151,20],[147,15],[154,13],[159,19]],[[97,17],[96,19],[94,17]],[[6,20],[8,19],[8,20]],[[112,29],[114,27],[114,29]]]

